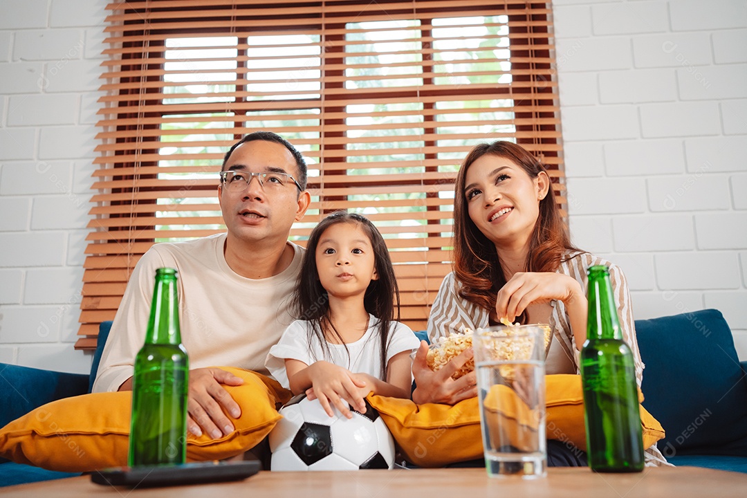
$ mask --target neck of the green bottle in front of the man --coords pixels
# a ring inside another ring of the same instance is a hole
[[[164,271],[168,270],[168,271]],[[176,270],[159,268],[150,307],[146,344],[180,344],[179,299],[176,293]]]

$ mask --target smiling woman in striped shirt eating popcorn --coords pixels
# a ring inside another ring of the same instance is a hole
[[[554,331],[547,373],[580,373],[578,352],[586,340],[586,270],[610,268],[622,336],[640,358],[630,293],[619,267],[571,245],[545,167],[521,146],[480,144],[465,158],[454,190],[453,272],[444,278],[431,308],[428,334],[437,337],[500,323],[549,323]],[[434,373],[421,343],[412,366],[416,403],[455,404],[477,396],[474,372],[450,376],[471,358],[467,351]],[[647,459],[663,461],[655,447]]]

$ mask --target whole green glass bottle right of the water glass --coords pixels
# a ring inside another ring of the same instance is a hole
[[[622,340],[610,271],[589,268],[589,320],[581,349],[586,447],[596,472],[640,472],[643,441],[633,352]]]

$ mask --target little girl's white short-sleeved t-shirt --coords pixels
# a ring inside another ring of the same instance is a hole
[[[285,329],[279,343],[270,348],[267,360],[264,362],[270,374],[288,389],[288,373],[285,372],[285,360],[298,360],[310,365],[315,361],[329,361],[339,367],[347,368],[353,373],[368,373],[377,379],[382,379],[385,365],[381,364],[381,339],[379,338],[379,319],[369,314],[368,330],[354,343],[332,344],[329,347],[329,357],[325,355],[317,337],[312,337],[309,343],[311,323],[306,320],[296,320]],[[412,352],[418,349],[420,341],[412,330],[403,323],[391,322],[389,327],[388,348],[386,352],[387,364],[394,355],[400,352]],[[345,351],[347,346],[347,352]],[[350,353],[348,356],[347,353]]]

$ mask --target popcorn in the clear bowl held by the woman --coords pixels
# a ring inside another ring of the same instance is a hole
[[[512,334],[512,329],[519,326],[519,323],[511,323],[505,317],[500,319],[500,323],[508,328],[506,329],[506,334],[509,336]],[[539,324],[539,327],[541,327],[545,332],[545,354],[547,354],[552,331],[548,325]],[[436,342],[430,346],[426,358],[430,370],[438,372],[438,370],[441,370],[441,368],[451,361],[452,358],[462,353],[465,349],[471,348],[472,333],[471,329],[465,329],[464,332],[452,332],[447,337],[438,337]],[[527,349],[530,347],[532,347],[532,344],[526,339],[519,339],[518,343],[514,343],[513,340],[496,341],[494,357],[496,359],[512,360],[515,357],[515,351],[517,348],[521,351],[521,349]],[[474,370],[474,359],[470,358],[462,368],[453,373],[451,378],[454,380],[459,379],[459,377],[470,373],[472,370]]]

